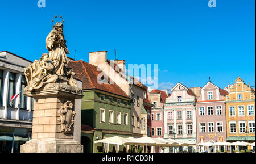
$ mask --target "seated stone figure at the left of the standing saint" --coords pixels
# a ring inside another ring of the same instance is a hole
[[[40,89],[48,83],[54,83],[58,79],[58,75],[52,74],[55,68],[49,61],[49,54],[43,53],[40,60],[35,60],[27,68],[24,69],[28,86],[25,90],[32,91]]]

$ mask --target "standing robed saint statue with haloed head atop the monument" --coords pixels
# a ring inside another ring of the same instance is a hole
[[[49,58],[52,60],[57,75],[65,77],[67,70],[64,65],[67,64],[67,54],[69,54],[66,40],[63,35],[63,24],[57,22],[53,30],[46,38],[46,49],[49,52]]]

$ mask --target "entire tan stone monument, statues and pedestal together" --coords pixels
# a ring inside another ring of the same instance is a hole
[[[57,22],[46,38],[49,54],[42,54],[40,60],[24,69],[28,83],[24,95],[34,98],[34,113],[32,140],[20,146],[20,153],[83,151],[83,146],[73,140],[73,104],[83,95],[73,79],[75,73],[65,66],[69,54],[65,43],[63,23]]]

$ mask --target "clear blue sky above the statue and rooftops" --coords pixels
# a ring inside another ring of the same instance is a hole
[[[255,85],[255,0],[1,0],[0,51],[38,59],[55,15],[76,60],[108,51],[126,64],[159,64],[160,89],[182,82],[224,88],[241,77]]]

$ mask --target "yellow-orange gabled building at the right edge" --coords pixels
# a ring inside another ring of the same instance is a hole
[[[225,90],[227,141],[255,142],[255,90],[240,77]]]

